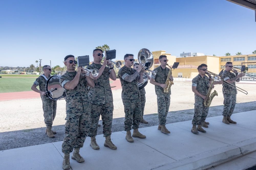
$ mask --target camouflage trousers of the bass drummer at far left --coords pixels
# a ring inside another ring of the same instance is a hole
[[[52,122],[56,116],[57,109],[57,100],[52,100],[50,98],[46,98],[42,101],[43,103],[43,111],[44,111],[44,121],[46,127],[52,127]]]

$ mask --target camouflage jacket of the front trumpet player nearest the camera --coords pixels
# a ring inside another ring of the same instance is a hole
[[[77,74],[77,72],[76,72]],[[61,86],[64,88],[64,85],[67,82],[72,81],[75,78],[74,75],[72,75],[71,73],[67,72],[65,74],[63,74],[60,77],[60,84]],[[77,108],[81,108],[83,107],[83,112],[90,112],[91,108],[90,108],[90,102],[89,102],[89,98],[88,98],[88,86],[87,86],[87,81],[86,81],[86,77],[80,75],[80,79],[79,82],[77,84],[77,86],[73,89],[73,90],[68,90],[66,89],[66,112],[67,113],[75,113]],[[81,106],[82,104],[82,106]]]

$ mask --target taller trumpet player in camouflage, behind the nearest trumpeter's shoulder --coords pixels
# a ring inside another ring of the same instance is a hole
[[[93,50],[94,62],[87,66],[87,69],[98,69],[99,74],[96,77],[91,78],[94,80],[94,88],[90,88],[88,96],[91,103],[91,123],[88,136],[91,137],[90,146],[93,149],[100,149],[96,142],[95,136],[97,135],[98,123],[101,115],[103,125],[103,137],[106,137],[104,146],[110,149],[117,149],[117,147],[111,142],[110,135],[112,133],[112,120],[113,120],[113,95],[110,87],[109,78],[116,80],[116,73],[113,67],[106,67],[107,60],[104,59],[103,65],[100,64],[104,55],[100,49]],[[98,55],[99,54],[99,55]]]

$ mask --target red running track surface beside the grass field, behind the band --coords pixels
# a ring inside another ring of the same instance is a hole
[[[116,81],[111,80],[113,83],[110,83],[110,86],[116,86],[111,88],[112,90],[121,89],[121,82],[119,79]],[[0,93],[0,101],[4,100],[17,100],[17,99],[31,99],[39,98],[40,94],[35,91],[22,91],[22,92],[11,92],[11,93]]]

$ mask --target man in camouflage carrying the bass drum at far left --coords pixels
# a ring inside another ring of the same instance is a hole
[[[49,78],[51,76],[50,75],[51,70],[49,69],[51,69],[50,66],[47,66],[47,65],[43,66],[43,70],[45,73],[43,74],[43,76],[41,75],[36,79],[31,89],[36,91],[37,93],[40,93],[40,97],[42,99],[43,111],[44,111],[44,122],[46,125],[45,133],[47,134],[48,129],[50,129],[47,136],[50,138],[54,138],[55,137],[54,134],[56,134],[56,132],[53,132],[51,128],[52,128],[52,122],[54,121],[56,116],[57,100],[52,100],[51,98],[48,97],[48,95],[45,94],[46,92],[45,85],[48,80],[47,77]],[[39,90],[36,88],[37,86],[39,86]]]

